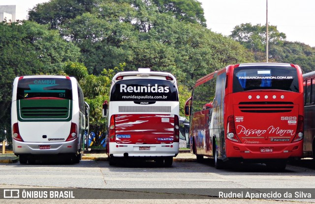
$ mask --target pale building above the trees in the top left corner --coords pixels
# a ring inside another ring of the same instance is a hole
[[[0,22],[16,22],[17,20],[24,20],[27,11],[23,11],[22,7],[18,5],[0,5]]]

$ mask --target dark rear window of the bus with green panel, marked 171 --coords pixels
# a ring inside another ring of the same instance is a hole
[[[17,100],[36,97],[55,97],[72,100],[69,79],[23,78],[18,82]]]

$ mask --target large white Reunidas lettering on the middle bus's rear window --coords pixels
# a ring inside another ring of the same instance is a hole
[[[148,86],[127,86],[126,84],[121,84],[120,85],[120,92],[121,93],[168,93],[169,92],[169,87],[163,87],[163,86],[158,86],[155,84],[154,86],[151,86],[148,84]]]

